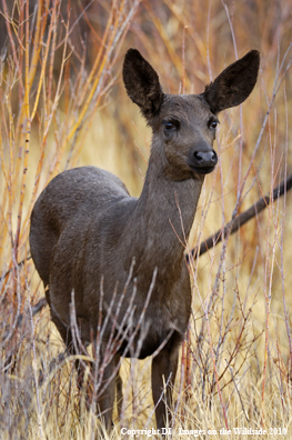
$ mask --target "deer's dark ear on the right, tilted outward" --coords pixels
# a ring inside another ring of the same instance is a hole
[[[241,104],[252,92],[260,67],[260,52],[251,50],[207,86],[203,94],[213,113]]]

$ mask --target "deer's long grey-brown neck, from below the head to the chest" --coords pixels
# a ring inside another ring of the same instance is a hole
[[[143,190],[135,210],[137,237],[151,259],[173,264],[174,260],[183,261],[204,178],[192,176],[173,180],[163,150],[155,147],[153,144],[151,149]],[[157,252],[151,251],[151,247]]]

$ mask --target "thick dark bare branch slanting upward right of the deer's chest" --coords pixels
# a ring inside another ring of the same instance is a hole
[[[271,196],[261,197],[246,211],[235,217],[223,229],[219,229],[213,236],[204,240],[200,244],[200,247],[193,248],[190,254],[187,256],[187,261],[188,262],[190,261],[190,256],[192,256],[192,258],[195,259],[199,256],[205,253],[209,249],[220,243],[220,241],[222,241],[222,237],[225,237],[228,232],[230,234],[236,232],[242,227],[242,224],[253,219],[253,217],[259,214],[259,212],[261,212],[264,208],[266,208],[271,202],[276,200],[279,197],[288,192],[291,188],[292,188],[292,174],[290,174],[285,180],[282,180],[282,182],[273,189]]]

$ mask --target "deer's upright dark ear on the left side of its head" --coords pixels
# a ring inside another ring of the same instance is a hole
[[[129,49],[125,53],[123,82],[131,100],[150,121],[159,112],[163,92],[155,70],[137,49]]]

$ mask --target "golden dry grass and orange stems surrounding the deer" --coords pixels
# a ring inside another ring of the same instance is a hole
[[[77,164],[107,168],[139,196],[151,133],[121,83],[127,48],[141,50],[173,93],[201,92],[236,57],[261,51],[252,96],[221,114],[220,162],[205,179],[191,248],[292,169],[291,9],[291,0],[269,7],[263,0],[144,0],[139,7],[134,0],[88,7],[2,0],[1,439],[91,439],[99,423],[82,393],[79,403],[73,360],[58,360],[63,347],[48,308],[33,314],[43,289],[27,260],[28,232],[38,194]],[[205,431],[200,438],[239,438],[235,427],[262,428],[271,438],[286,429],[292,437],[291,204],[288,193],[190,267],[193,313],[174,390],[178,439],[194,437],[179,428]],[[150,360],[122,368],[125,402],[111,438],[122,427],[154,427]],[[223,428],[231,434],[220,433]]]

